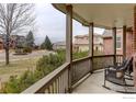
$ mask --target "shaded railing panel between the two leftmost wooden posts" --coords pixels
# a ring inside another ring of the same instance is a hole
[[[71,67],[71,84],[73,86],[90,71],[92,71],[91,57],[73,60]]]

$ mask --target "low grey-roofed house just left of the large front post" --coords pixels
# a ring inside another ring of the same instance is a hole
[[[56,49],[66,49],[66,42],[63,41],[63,42],[56,42],[53,44],[53,49],[56,50]]]

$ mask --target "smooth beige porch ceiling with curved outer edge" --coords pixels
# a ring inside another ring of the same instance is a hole
[[[53,4],[59,11],[66,13],[64,3]],[[73,7],[73,19],[89,25],[93,22],[98,27],[122,27],[133,26],[134,5],[133,3],[71,3]]]

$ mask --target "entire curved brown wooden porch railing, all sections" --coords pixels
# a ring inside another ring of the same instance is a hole
[[[70,64],[65,63],[22,93],[67,93],[69,92],[69,83],[73,86],[89,72],[113,65],[114,58],[116,58],[116,63],[123,61],[122,55],[116,55],[116,57],[114,55],[102,55],[73,60],[71,68]]]

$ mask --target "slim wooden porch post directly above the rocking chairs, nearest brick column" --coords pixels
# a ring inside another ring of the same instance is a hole
[[[126,58],[126,25],[123,26],[123,59]]]

